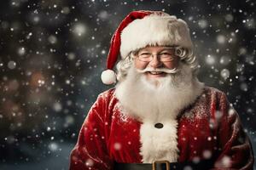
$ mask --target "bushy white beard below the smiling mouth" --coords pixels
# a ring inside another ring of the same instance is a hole
[[[125,80],[117,84],[115,94],[123,113],[158,122],[175,119],[195,101],[202,88],[203,83],[192,76],[189,65],[181,64],[177,73],[156,80],[147,80],[132,65]]]

